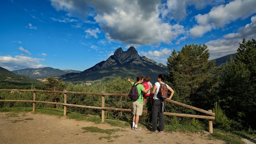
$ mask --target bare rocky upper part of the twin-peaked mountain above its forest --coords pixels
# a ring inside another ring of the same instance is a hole
[[[120,47],[115,52],[114,55],[111,55],[108,60],[101,61],[100,63],[96,64],[92,68],[88,68],[84,71],[95,71],[100,70],[104,68],[110,68],[113,66],[142,66],[147,67],[150,66],[159,66],[159,67],[165,67],[162,63],[156,63],[154,60],[150,60],[147,57],[143,56],[140,57],[138,52],[134,47],[130,47],[127,51],[123,51],[123,49]]]

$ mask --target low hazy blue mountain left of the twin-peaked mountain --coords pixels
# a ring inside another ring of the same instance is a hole
[[[60,70],[57,68],[45,67],[45,68],[25,68],[20,70],[13,70],[13,73],[17,75],[29,76],[35,79],[44,79],[51,76],[60,76],[69,72],[79,72],[77,70]],[[81,72],[81,71],[80,71]]]

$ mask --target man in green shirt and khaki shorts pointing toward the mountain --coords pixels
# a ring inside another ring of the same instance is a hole
[[[141,84],[143,82],[143,76],[137,76],[136,78],[137,80],[137,89],[138,89],[138,93],[139,93],[139,99],[138,100],[134,100],[132,102],[132,114],[133,114],[133,118],[132,118],[132,130],[141,130],[141,127],[138,127],[138,122],[139,122],[139,118],[142,115],[142,110],[143,110],[143,93],[147,93],[150,90],[150,87],[148,89],[145,89],[143,87],[143,85]],[[131,85],[134,84],[134,82],[132,82],[130,79],[128,79],[128,82],[131,83]]]

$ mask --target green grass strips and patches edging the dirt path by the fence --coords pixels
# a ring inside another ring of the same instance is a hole
[[[32,108],[0,108],[0,112],[11,112],[7,114],[7,117],[17,117],[18,113],[26,113],[31,112]],[[35,113],[40,114],[46,114],[46,115],[56,115],[56,116],[63,116],[63,109],[58,108],[36,108]],[[26,114],[22,114],[22,116],[26,116]],[[96,124],[101,123],[100,116],[86,116],[84,114],[76,113],[76,112],[67,112],[67,118],[70,119],[76,119],[78,121],[91,121]],[[28,118],[25,120],[33,120],[32,118]],[[15,120],[12,121],[12,123],[17,123],[24,120]],[[117,126],[121,128],[126,128],[131,126],[131,122],[124,122],[120,120],[111,120],[111,119],[105,119],[104,123],[108,123],[112,126]],[[141,125],[142,124],[142,125]],[[141,126],[148,126],[149,123],[141,123]],[[78,125],[77,125],[78,126]],[[200,124],[200,126],[189,126],[186,124],[165,124],[165,132],[199,132],[204,135],[205,125]],[[124,131],[121,129],[108,129],[103,130],[98,127],[83,127],[85,130],[84,132],[98,132],[98,133],[106,133],[108,136],[100,137],[99,139],[107,139],[108,142],[113,142],[111,138],[118,138],[120,136],[110,136],[111,134],[119,131]],[[207,128],[206,128],[207,129]],[[75,134],[78,135],[78,134]],[[256,139],[256,131],[249,129],[247,131],[238,131],[238,130],[224,130],[224,129],[213,129],[213,133],[209,135],[208,139],[220,139],[226,142],[226,144],[244,144],[244,142],[241,140],[241,138],[246,139]],[[140,141],[138,141],[140,143]]]

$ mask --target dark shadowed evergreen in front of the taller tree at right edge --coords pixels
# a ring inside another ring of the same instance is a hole
[[[225,114],[243,124],[255,128],[256,96],[247,66],[237,60],[227,61],[219,86],[219,104]]]

